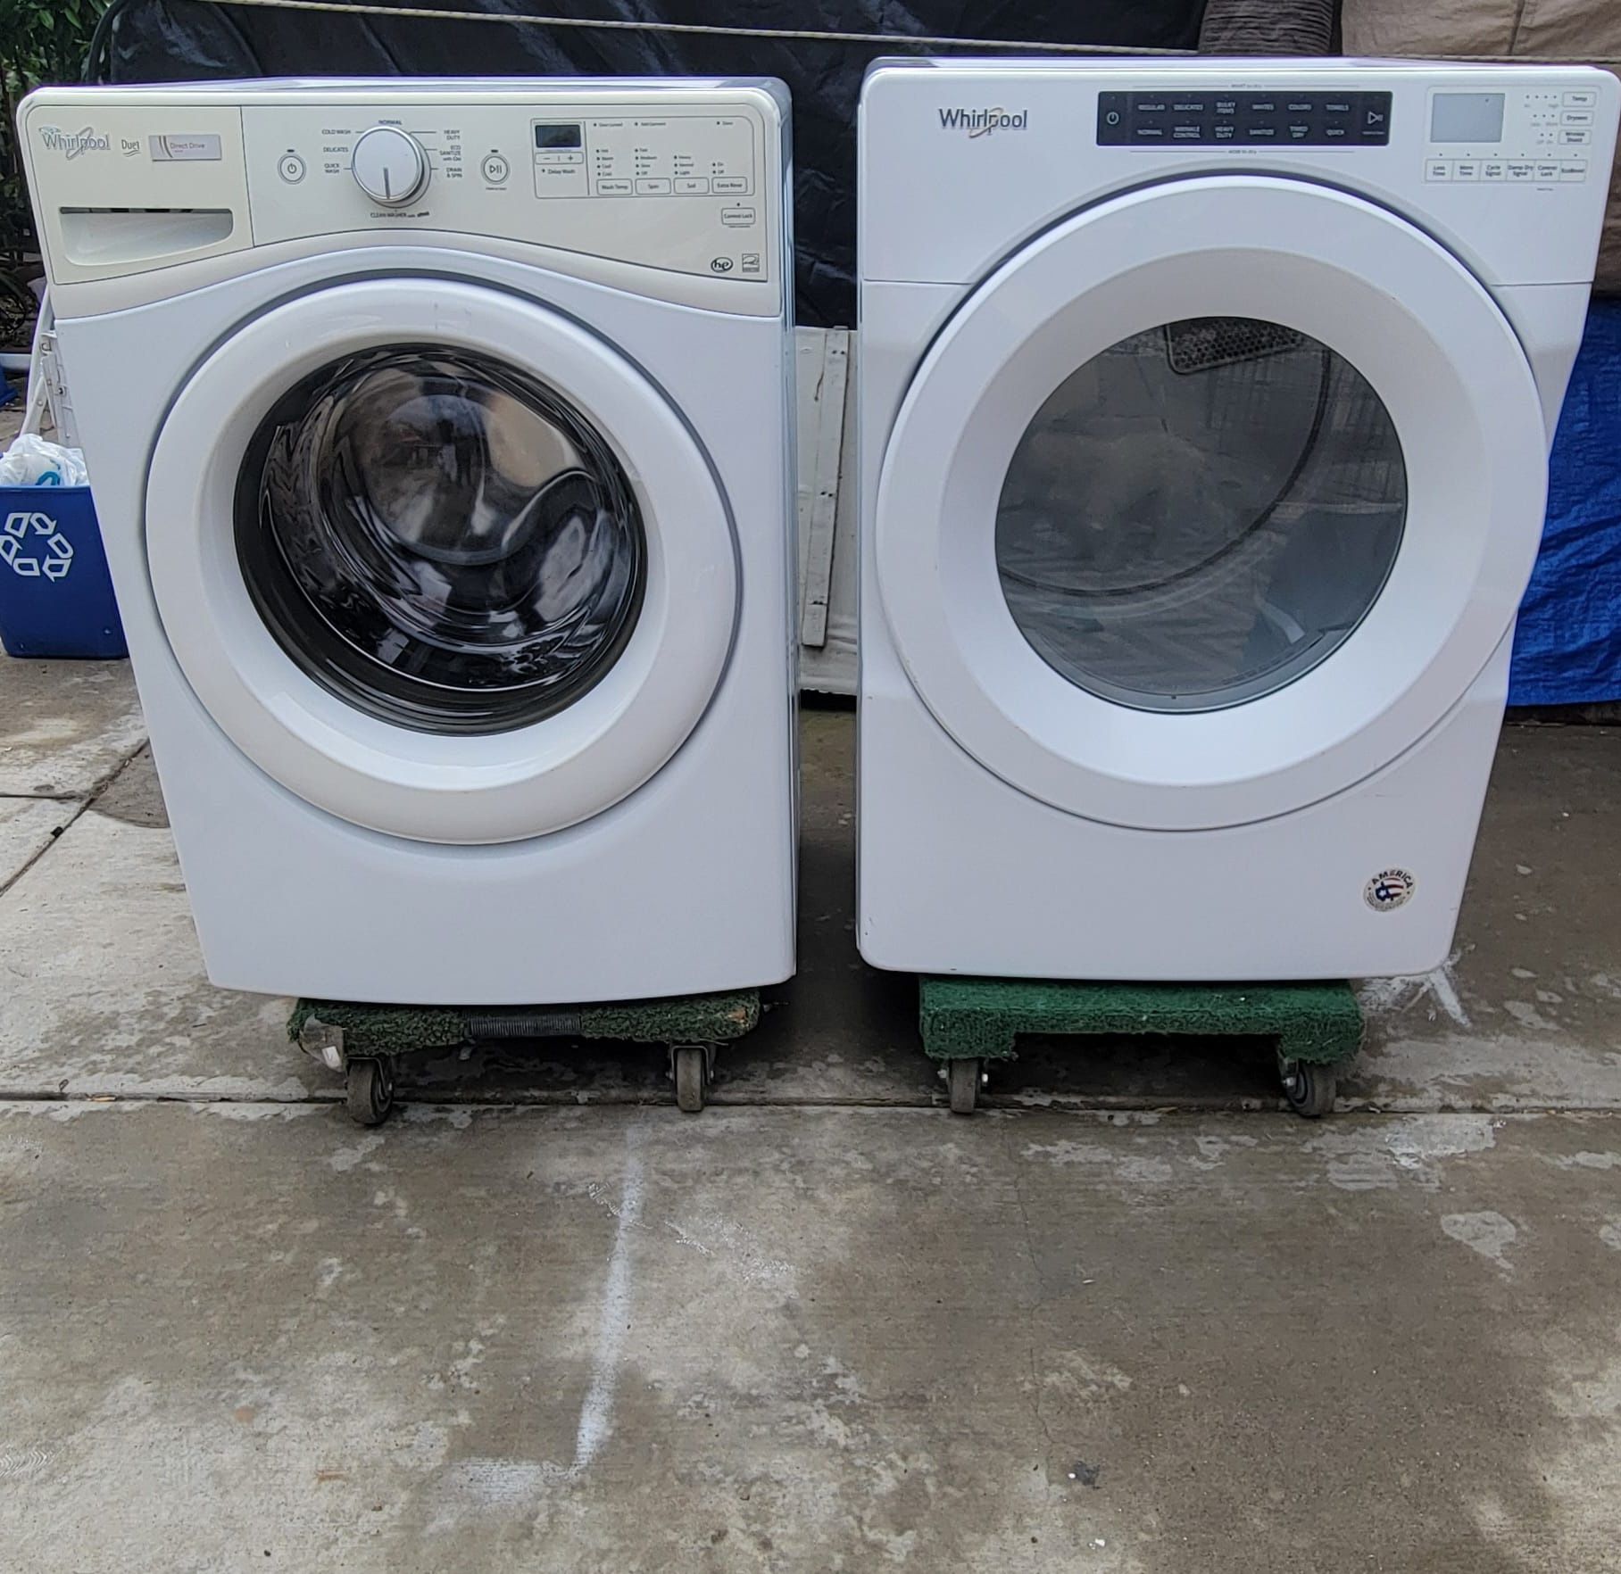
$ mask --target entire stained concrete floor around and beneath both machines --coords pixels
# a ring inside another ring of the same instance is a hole
[[[360,1131],[206,984],[126,669],[0,661],[0,1569],[1621,1568],[1621,736],[1506,733],[1321,1125],[1196,1042],[947,1115],[804,739],[715,1109],[449,1055]]]

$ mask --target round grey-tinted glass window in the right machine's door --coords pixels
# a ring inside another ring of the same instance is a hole
[[[1384,402],[1256,318],[1131,334],[1047,397],[997,506],[1002,593],[1060,676],[1216,710],[1305,676],[1373,608],[1407,517]]]

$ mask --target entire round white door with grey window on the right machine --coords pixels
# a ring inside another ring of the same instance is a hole
[[[1266,177],[1033,242],[947,323],[874,522],[911,682],[989,770],[1118,825],[1240,825],[1457,704],[1542,535],[1530,366],[1456,258]]]

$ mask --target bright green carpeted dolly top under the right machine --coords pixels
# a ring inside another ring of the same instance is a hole
[[[1075,984],[926,977],[917,1016],[935,1060],[1012,1060],[1021,1034],[1271,1037],[1284,1060],[1332,1063],[1362,1044],[1349,984]]]

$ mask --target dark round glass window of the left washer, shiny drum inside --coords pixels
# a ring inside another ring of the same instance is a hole
[[[391,345],[303,378],[237,485],[259,616],[311,678],[428,733],[527,726],[585,694],[642,605],[622,465],[540,379]]]

